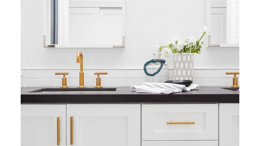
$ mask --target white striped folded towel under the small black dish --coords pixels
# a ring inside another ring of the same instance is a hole
[[[182,91],[191,91],[199,89],[198,84],[191,84],[186,87],[185,85],[172,84],[172,83],[149,83],[145,82],[142,86],[130,86],[131,91],[139,93],[178,93]]]

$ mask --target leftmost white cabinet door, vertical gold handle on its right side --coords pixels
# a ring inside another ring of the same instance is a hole
[[[21,146],[56,146],[58,131],[65,146],[66,105],[21,105]]]

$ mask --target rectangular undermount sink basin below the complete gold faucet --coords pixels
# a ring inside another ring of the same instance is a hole
[[[30,92],[115,92],[116,88],[43,88]]]

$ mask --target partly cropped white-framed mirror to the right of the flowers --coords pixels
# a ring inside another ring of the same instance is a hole
[[[239,0],[206,0],[207,47],[239,47]]]

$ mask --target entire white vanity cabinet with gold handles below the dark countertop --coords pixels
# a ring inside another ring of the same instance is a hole
[[[22,146],[59,137],[61,146],[238,146],[239,104],[21,105]]]

